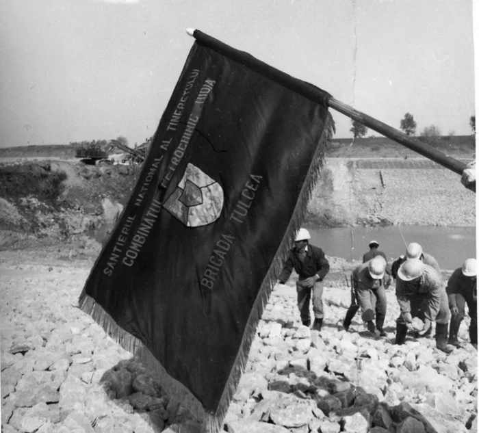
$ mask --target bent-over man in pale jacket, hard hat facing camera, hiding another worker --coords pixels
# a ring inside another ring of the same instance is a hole
[[[404,344],[409,329],[413,329],[413,317],[424,322],[424,336],[430,332],[432,322],[436,322],[436,347],[445,353],[454,348],[448,345],[448,322],[451,317],[448,295],[441,276],[430,265],[419,259],[407,259],[398,270],[396,297],[400,316],[396,320],[396,344]]]

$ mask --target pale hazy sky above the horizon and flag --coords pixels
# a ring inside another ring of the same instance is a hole
[[[409,111],[418,133],[471,133],[471,0],[5,0],[0,146],[141,144],[194,43],[187,27],[392,127]],[[332,113],[335,137],[351,137]]]

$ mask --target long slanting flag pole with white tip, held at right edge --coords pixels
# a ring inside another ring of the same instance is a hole
[[[189,36],[196,38],[197,40],[207,40],[208,43],[211,44],[211,46],[216,47],[217,49],[223,51],[226,49],[229,53],[235,51],[226,44],[223,44],[222,42],[211,38],[211,36],[207,36],[196,29],[186,29],[186,33]],[[339,113],[344,114],[349,118],[352,118],[353,120],[361,122],[366,127],[380,133],[381,135],[384,135],[385,137],[390,138],[391,140],[394,140],[395,142],[398,142],[399,144],[402,144],[403,146],[406,146],[411,150],[414,150],[416,153],[419,153],[419,155],[423,155],[424,157],[431,159],[435,163],[438,163],[439,165],[448,168],[449,170],[452,170],[460,176],[463,174],[464,170],[469,168],[466,163],[458,161],[458,159],[454,159],[448,155],[445,155],[445,153],[442,153],[440,150],[437,150],[432,146],[429,146],[428,144],[420,142],[416,138],[409,137],[409,135],[406,135],[398,131],[397,129],[394,129],[393,127],[390,127],[389,125],[380,122],[380,120],[372,118],[367,114],[361,113],[361,111],[358,111],[357,109],[354,109],[349,105],[346,105],[345,103],[337,101],[333,98],[333,96],[331,96],[327,92],[324,92],[324,90],[316,88],[315,86],[311,86],[304,81],[292,79],[292,77],[289,77],[289,75],[286,75],[281,70],[272,68],[271,66],[266,65],[259,60],[256,60],[254,57],[243,57],[242,52],[236,51],[236,53],[233,53],[233,55],[236,56],[235,60],[238,60],[239,62],[246,61],[250,66],[259,65],[259,68],[263,68],[263,73],[266,69],[266,75],[268,77],[278,79],[280,83],[289,83],[289,86],[290,88],[292,88],[292,90],[295,90],[296,92],[299,92],[300,94],[303,94],[304,96],[313,99],[314,101],[323,103],[324,105],[327,105],[328,107],[339,111]],[[294,82],[293,85],[291,85],[292,82]],[[471,182],[465,186],[468,189],[471,189],[471,191],[476,192],[475,180],[474,182]]]

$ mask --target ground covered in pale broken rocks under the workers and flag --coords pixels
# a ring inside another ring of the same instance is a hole
[[[200,432],[198,424],[77,308],[99,246],[0,253],[2,432]],[[341,330],[356,263],[331,259],[322,332],[300,324],[294,279],[274,288],[224,430],[230,433],[477,431],[477,352],[446,355],[432,339],[393,345],[398,304],[387,293],[387,338],[359,315]],[[447,277],[447,276],[444,276]]]

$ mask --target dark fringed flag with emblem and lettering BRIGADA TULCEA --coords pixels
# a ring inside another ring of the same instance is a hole
[[[326,92],[194,36],[79,304],[215,431],[334,126]]]

